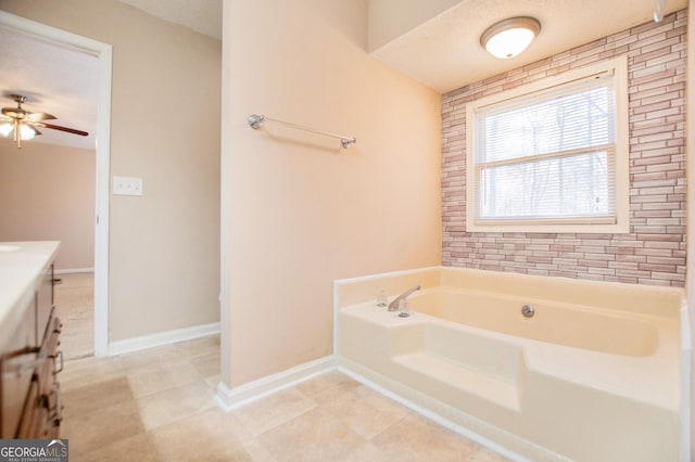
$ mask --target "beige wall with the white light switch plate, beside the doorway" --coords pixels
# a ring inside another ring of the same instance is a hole
[[[219,319],[219,40],[114,0],[2,0],[20,16],[113,44],[110,339]]]

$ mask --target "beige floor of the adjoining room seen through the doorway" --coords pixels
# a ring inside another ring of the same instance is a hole
[[[58,317],[63,321],[61,349],[65,359],[94,352],[94,274],[89,272],[56,274]]]

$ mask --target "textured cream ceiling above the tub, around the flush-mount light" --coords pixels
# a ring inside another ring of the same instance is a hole
[[[656,4],[656,0],[462,0],[371,54],[446,92],[653,21]],[[666,2],[667,12],[686,5],[687,0]],[[541,33],[520,55],[493,57],[480,46],[480,36],[514,16],[538,18]]]

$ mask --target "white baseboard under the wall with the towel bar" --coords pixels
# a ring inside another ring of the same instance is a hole
[[[278,372],[277,374],[268,375],[235,388],[229,388],[220,382],[217,385],[215,400],[224,411],[229,412],[232,409],[265,398],[266,396],[333,371],[334,369],[336,361],[331,355],[295,365],[287,371]]]

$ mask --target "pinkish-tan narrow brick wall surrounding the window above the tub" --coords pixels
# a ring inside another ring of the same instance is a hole
[[[443,265],[683,286],[686,11],[602,38],[442,98]],[[630,233],[466,232],[466,103],[628,55]]]

